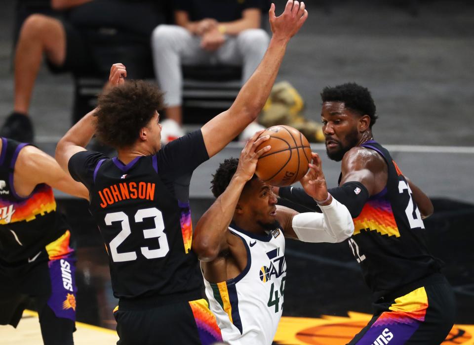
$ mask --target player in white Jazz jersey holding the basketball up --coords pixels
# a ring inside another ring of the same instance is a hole
[[[258,138],[261,133],[247,142],[240,159],[226,159],[213,175],[217,200],[193,237],[210,308],[230,345],[272,344],[285,290],[285,237],[335,243],[354,232],[348,209],[327,192],[315,153],[301,183],[322,214],[276,205],[271,186],[255,175],[258,158],[270,149],[255,152],[269,138]]]

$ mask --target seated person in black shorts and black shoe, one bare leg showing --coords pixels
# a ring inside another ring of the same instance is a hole
[[[104,76],[105,82],[112,63],[120,60],[127,63],[130,75],[143,78],[133,73],[132,58],[136,59],[140,46],[151,55],[150,35],[163,22],[153,1],[51,0],[54,10],[63,11],[61,19],[30,15],[21,27],[16,45],[13,112],[6,118],[0,135],[21,142],[34,140],[28,111],[43,55],[53,73]],[[137,42],[138,38],[143,42]],[[118,48],[132,40],[135,55]],[[151,57],[149,60],[151,64]]]

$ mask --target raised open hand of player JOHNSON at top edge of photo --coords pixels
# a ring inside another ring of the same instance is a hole
[[[284,40],[292,38],[303,23],[308,18],[308,11],[305,9],[305,3],[302,1],[288,0],[283,13],[276,17],[275,4],[272,3],[269,11],[270,26],[273,36]]]

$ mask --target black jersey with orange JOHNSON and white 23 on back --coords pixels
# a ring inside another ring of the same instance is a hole
[[[117,298],[200,291],[202,276],[191,251],[189,184],[207,159],[200,130],[126,165],[97,152],[71,157],[71,175],[89,190],[89,210],[109,254]]]

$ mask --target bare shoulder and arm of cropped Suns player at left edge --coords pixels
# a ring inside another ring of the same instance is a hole
[[[88,199],[89,192],[80,182],[76,182],[69,174],[61,170],[53,157],[34,146],[26,146],[20,151],[15,164],[15,182],[21,181],[21,186],[15,189],[30,194],[35,186],[46,183],[64,193]]]

